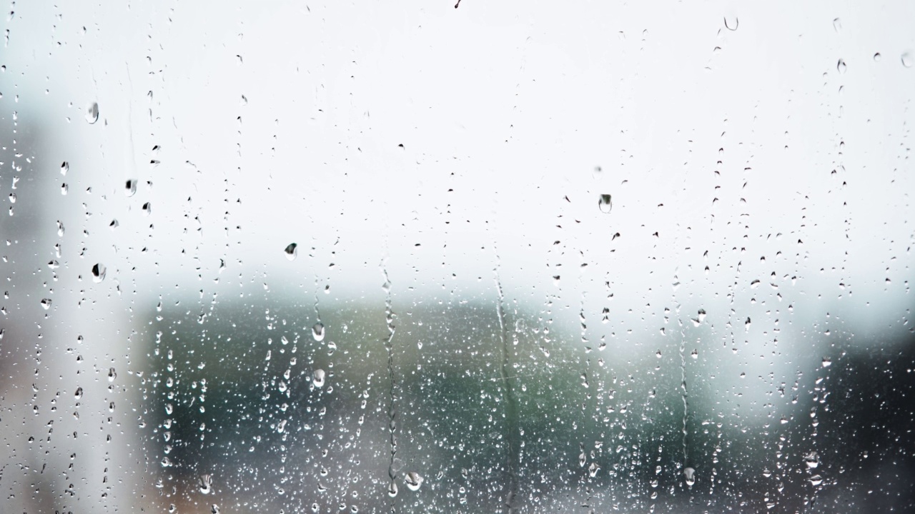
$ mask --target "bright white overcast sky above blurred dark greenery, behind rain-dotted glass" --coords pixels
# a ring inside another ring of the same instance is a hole
[[[572,326],[582,295],[592,322],[612,306],[653,331],[682,304],[723,323],[735,282],[741,319],[818,295],[811,317],[908,316],[915,5],[241,4],[5,22],[2,116],[46,134],[36,173],[70,162],[40,201],[72,220],[65,268],[109,266],[100,297],[310,297],[317,273],[374,301],[382,260],[395,297],[486,297],[498,255],[507,298],[554,298]]]

